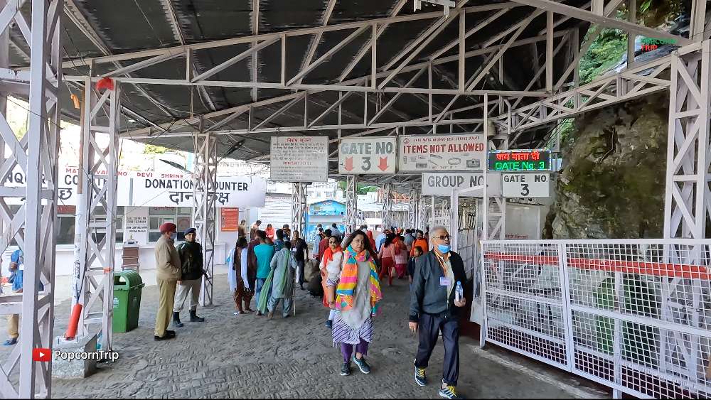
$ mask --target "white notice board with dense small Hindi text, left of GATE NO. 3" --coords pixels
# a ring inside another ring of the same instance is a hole
[[[271,180],[328,182],[328,136],[272,136]]]

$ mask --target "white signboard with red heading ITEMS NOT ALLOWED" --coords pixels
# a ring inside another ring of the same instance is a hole
[[[398,171],[483,171],[482,134],[400,136]]]

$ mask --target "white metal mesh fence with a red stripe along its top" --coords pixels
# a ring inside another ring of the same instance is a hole
[[[711,396],[711,241],[483,241],[483,339],[642,398]]]

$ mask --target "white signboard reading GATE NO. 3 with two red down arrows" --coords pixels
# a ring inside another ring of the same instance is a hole
[[[341,139],[338,146],[339,173],[395,173],[397,138]]]

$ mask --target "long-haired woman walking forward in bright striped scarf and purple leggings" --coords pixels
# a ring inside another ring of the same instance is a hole
[[[341,344],[341,375],[351,374],[351,355],[360,372],[370,373],[365,362],[368,343],[373,341],[373,316],[378,310],[380,293],[378,269],[373,249],[363,231],[355,231],[344,242],[343,264],[328,268],[326,296],[328,306],[339,310],[333,318],[333,344]]]

